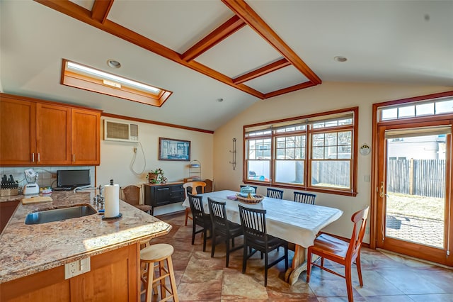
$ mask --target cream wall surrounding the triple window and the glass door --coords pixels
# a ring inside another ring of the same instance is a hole
[[[366,142],[367,145],[373,147],[372,104],[449,90],[452,90],[452,87],[324,82],[309,89],[258,101],[214,133],[216,190],[237,190],[242,184],[243,125],[359,106],[357,146]],[[232,159],[229,150],[232,148],[233,138],[237,138],[235,170],[229,164]],[[358,156],[358,194],[356,197],[316,193],[316,204],[340,208],[344,212],[339,220],[326,228],[328,233],[350,237],[352,213],[370,203],[370,182],[365,181],[365,177],[371,173],[371,155]],[[285,189],[283,198],[292,200],[292,192],[293,190]],[[258,193],[265,194],[265,187],[258,187]],[[369,242],[368,236],[365,238],[365,242]]]

